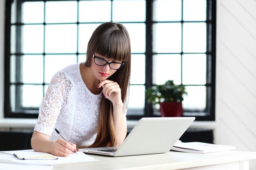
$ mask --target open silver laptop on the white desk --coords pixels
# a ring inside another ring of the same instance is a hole
[[[195,117],[144,117],[119,147],[80,148],[79,151],[111,157],[166,153]]]

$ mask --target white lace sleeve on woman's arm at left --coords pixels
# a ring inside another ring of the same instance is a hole
[[[49,84],[49,87],[39,108],[39,115],[34,130],[51,136],[61,107],[67,103],[67,93],[72,84],[65,72],[57,72]]]

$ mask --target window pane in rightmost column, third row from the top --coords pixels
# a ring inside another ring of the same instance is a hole
[[[183,84],[206,84],[206,55],[184,54],[182,56]]]

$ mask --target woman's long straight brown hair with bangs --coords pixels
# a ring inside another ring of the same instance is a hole
[[[131,49],[128,31],[124,25],[114,22],[101,24],[92,33],[88,42],[85,66],[90,67],[93,52],[107,58],[124,62],[124,66],[108,79],[117,82],[121,88],[121,99],[124,109],[127,108],[130,84]],[[123,111],[124,111],[123,109]],[[97,137],[89,147],[116,146],[117,138],[113,122],[113,105],[110,100],[101,96]]]

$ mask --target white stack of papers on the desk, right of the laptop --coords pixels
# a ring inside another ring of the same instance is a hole
[[[209,153],[234,150],[235,146],[208,144],[203,142],[177,142],[171,150],[190,153]]]

